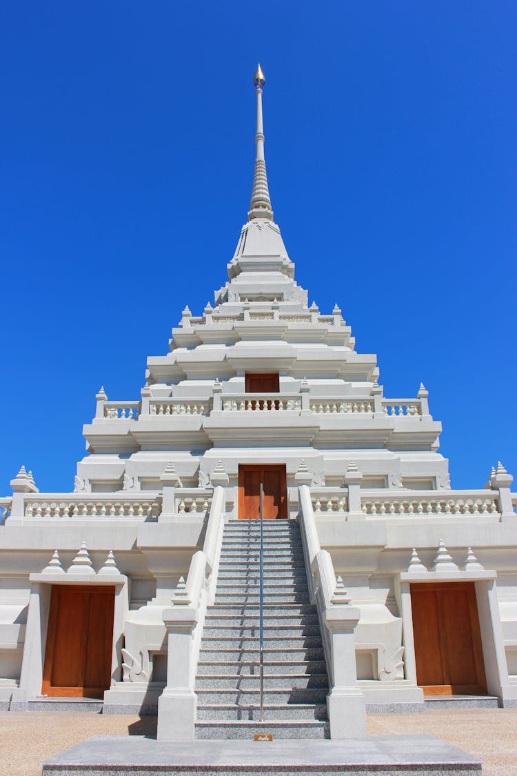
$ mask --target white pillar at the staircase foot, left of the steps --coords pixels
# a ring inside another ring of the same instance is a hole
[[[164,609],[167,685],[158,698],[159,741],[193,741],[197,698],[193,679],[193,632],[198,613],[190,606]]]

